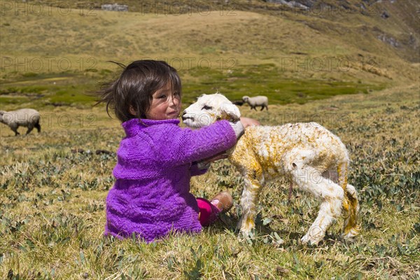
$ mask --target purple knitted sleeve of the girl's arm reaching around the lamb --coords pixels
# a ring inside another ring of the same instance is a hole
[[[219,120],[199,130],[172,126],[168,133],[169,149],[163,158],[168,165],[184,165],[209,158],[232,148],[237,136],[227,120]]]

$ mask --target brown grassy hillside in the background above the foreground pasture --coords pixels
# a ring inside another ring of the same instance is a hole
[[[91,9],[101,1],[88,7],[75,1],[72,8],[47,6],[41,15],[29,13],[35,3],[47,5],[29,1],[26,14],[2,10],[3,94],[31,91],[21,88],[25,81],[48,85],[40,92],[54,95],[59,89],[48,79],[66,73],[65,82],[54,84],[66,87],[65,100],[69,84],[94,86],[116,70],[106,61],[142,58],[179,69],[188,98],[218,89],[235,98],[255,92],[273,94],[274,102],[307,102],[311,97],[300,96],[311,90],[356,93],[418,83],[416,1],[293,2],[307,8],[290,1],[181,2],[189,9],[172,1],[121,1],[134,10],[129,13]],[[285,95],[278,96],[279,89]]]

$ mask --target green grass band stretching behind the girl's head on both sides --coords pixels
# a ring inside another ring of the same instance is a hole
[[[61,73],[22,76],[0,87],[1,107],[25,104],[48,106],[50,104],[88,106],[94,103],[89,92],[99,87],[100,81],[110,80],[118,73]],[[285,78],[274,64],[237,66],[234,71],[193,68],[181,70],[183,102],[189,104],[203,93],[216,90],[228,98],[241,99],[248,95],[265,95],[270,104],[304,104],[339,94],[368,93],[386,87],[385,83],[360,81],[316,80]]]

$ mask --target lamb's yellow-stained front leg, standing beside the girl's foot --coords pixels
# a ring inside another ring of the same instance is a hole
[[[255,216],[257,214],[257,203],[258,195],[261,190],[261,186],[264,183],[262,174],[258,178],[251,178],[246,176],[245,187],[241,197],[241,209],[242,215],[239,219],[237,228],[241,230],[244,236],[248,236],[249,232],[255,228]]]

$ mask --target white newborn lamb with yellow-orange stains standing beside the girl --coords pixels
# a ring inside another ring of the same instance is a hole
[[[216,120],[239,120],[240,113],[222,94],[202,95],[183,113],[183,123],[203,127]],[[244,176],[242,216],[238,229],[244,235],[255,227],[256,205],[267,180],[286,176],[301,190],[321,200],[318,217],[302,237],[303,243],[318,244],[342,209],[347,216],[342,237],[358,235],[358,198],[347,183],[349,153],[342,141],[317,123],[247,127],[236,146],[227,151],[232,165]]]

